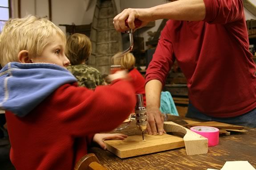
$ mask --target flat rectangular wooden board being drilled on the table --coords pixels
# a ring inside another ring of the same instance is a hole
[[[169,134],[144,134],[144,139],[145,141],[142,141],[141,135],[134,135],[128,136],[124,140],[106,140],[104,142],[106,143],[107,150],[119,158],[129,158],[185,146],[183,138]]]

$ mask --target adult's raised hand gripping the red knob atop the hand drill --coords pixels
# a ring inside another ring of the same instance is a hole
[[[135,19],[141,20],[142,24],[140,26],[144,27],[150,21],[152,21],[150,8],[127,8],[124,9],[120,14],[114,17],[114,27],[118,32],[125,32],[129,29],[134,29],[134,20]],[[127,19],[129,27],[126,26],[125,20]]]

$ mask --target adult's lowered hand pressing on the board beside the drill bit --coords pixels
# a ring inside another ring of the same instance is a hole
[[[163,129],[163,116],[158,107],[147,107],[146,114],[148,116],[147,133],[150,135],[162,135],[166,133]]]

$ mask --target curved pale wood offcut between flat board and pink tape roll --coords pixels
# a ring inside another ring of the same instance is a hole
[[[173,122],[164,122],[163,127],[166,132],[180,132],[185,134],[183,140],[187,155],[207,154],[207,138]]]

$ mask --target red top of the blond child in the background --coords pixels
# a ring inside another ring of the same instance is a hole
[[[145,96],[145,79],[142,74],[136,69],[132,69],[129,72],[129,75],[132,78],[132,84],[135,89],[136,94],[143,95],[144,106],[146,107],[146,96]]]

